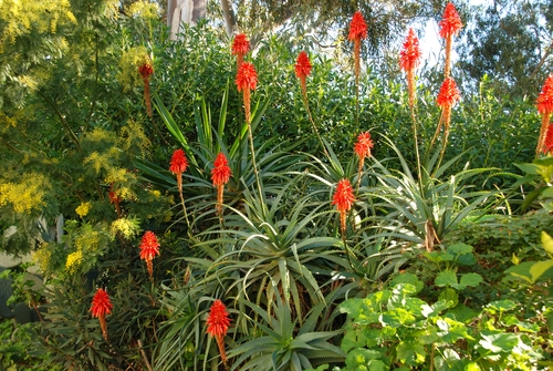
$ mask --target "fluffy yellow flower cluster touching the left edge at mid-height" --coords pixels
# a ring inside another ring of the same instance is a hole
[[[13,212],[23,214],[44,206],[44,195],[51,189],[49,179],[39,173],[23,175],[21,183],[0,183],[0,206],[11,204]]]

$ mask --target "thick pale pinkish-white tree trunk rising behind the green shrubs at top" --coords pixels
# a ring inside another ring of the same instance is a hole
[[[167,25],[170,27],[170,39],[177,40],[182,34],[182,22],[195,25],[206,18],[207,0],[168,0]]]

